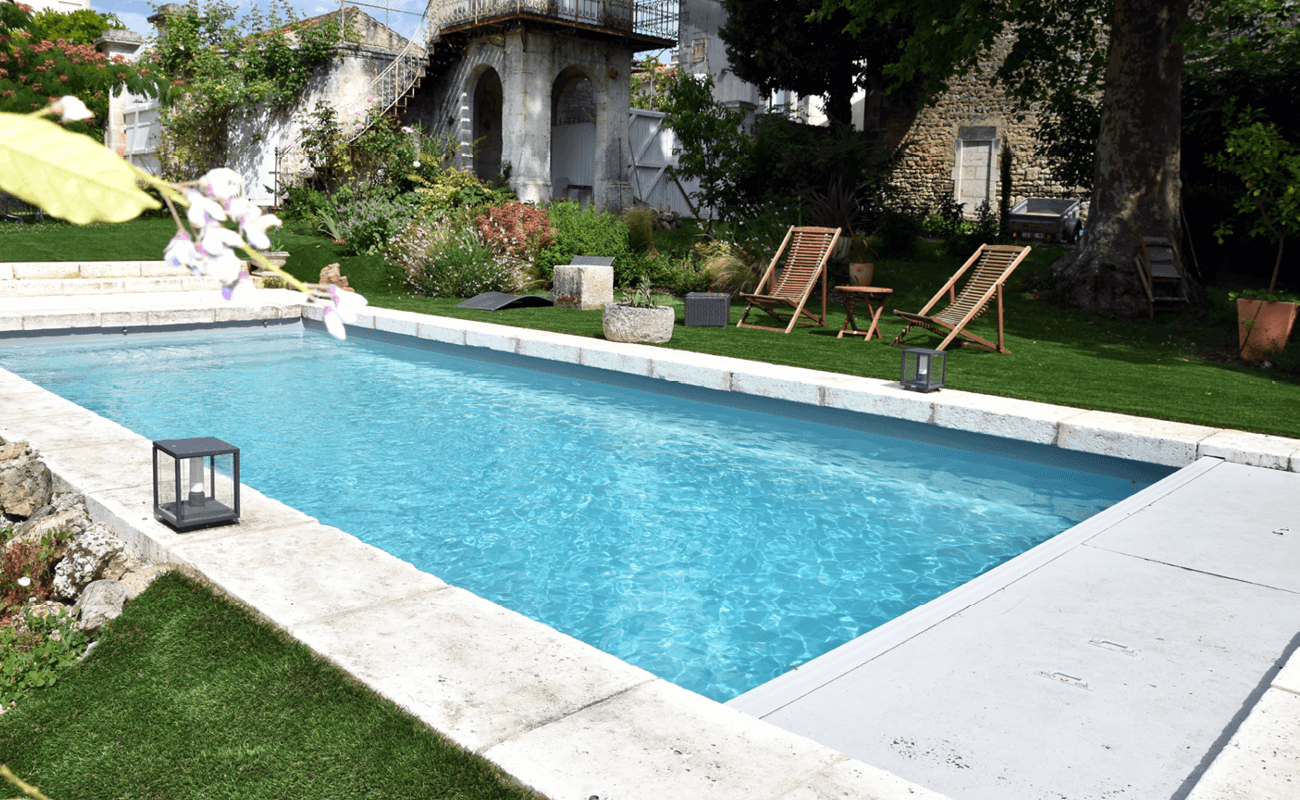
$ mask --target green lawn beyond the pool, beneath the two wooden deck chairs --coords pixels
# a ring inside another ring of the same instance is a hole
[[[32,230],[23,233],[13,233],[13,228],[5,232],[0,226],[0,250],[12,260],[34,258],[31,254],[40,250],[61,252],[62,258],[88,258],[69,254],[103,252],[108,245],[92,247],[88,243],[94,238],[91,234],[105,238],[112,234],[117,250],[110,258],[160,258],[161,243],[173,230],[170,225],[168,220],[152,219],[88,229],[61,225],[35,230],[38,226],[27,226]],[[72,233],[83,238],[72,242],[68,239]],[[410,297],[381,258],[343,255],[341,246],[302,225],[286,226],[276,235],[274,245],[291,254],[287,268],[307,281],[316,281],[326,264],[339,263],[352,287],[372,306],[602,336],[599,311],[517,308],[484,312],[455,308],[459,302],[455,299]],[[1182,315],[1165,312],[1153,321],[1082,313],[1035,299],[1026,287],[1030,276],[1046,268],[1061,252],[1057,246],[1036,246],[1011,276],[1005,294],[1006,346],[1011,354],[952,349],[949,386],[1300,438],[1300,377],[1225,360],[1236,342],[1236,315],[1227,300],[1227,291],[1235,285],[1210,286],[1209,308]],[[901,320],[889,311],[919,311],[962,260],[939,254],[937,243],[922,242],[913,259],[876,264],[875,282],[894,290],[881,317],[887,342],[902,329]],[[837,306],[829,311],[827,328],[801,327],[786,336],[734,327],[685,328],[681,300],[663,300],[679,308],[677,328],[664,347],[887,380],[898,377],[897,349],[880,341],[863,342],[861,337],[836,340],[844,321]],[[742,306],[732,307],[733,323],[741,312]],[[971,325],[971,330],[993,338],[996,316],[985,315]],[[937,341],[918,330],[907,343],[933,346]]]

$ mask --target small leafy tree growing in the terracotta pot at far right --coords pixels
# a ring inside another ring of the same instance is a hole
[[[1244,191],[1235,208],[1238,213],[1254,217],[1249,235],[1278,243],[1269,280],[1269,294],[1273,294],[1287,237],[1300,233],[1300,152],[1282,137],[1277,125],[1264,120],[1258,109],[1247,107],[1240,114],[1232,112],[1230,107],[1225,117],[1223,152],[1208,160],[1240,181]],[[1222,242],[1232,233],[1232,224],[1225,221],[1214,233]]]

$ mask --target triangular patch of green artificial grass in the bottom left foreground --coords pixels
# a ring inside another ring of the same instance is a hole
[[[0,753],[56,799],[537,797],[179,572],[0,715]]]

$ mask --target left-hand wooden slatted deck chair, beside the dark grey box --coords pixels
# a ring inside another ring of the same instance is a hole
[[[746,324],[745,319],[755,307],[762,308],[781,323],[788,321],[785,333],[794,330],[796,324],[826,327],[826,261],[831,258],[835,243],[840,241],[841,230],[841,228],[790,228],[754,293],[741,293],[740,297],[749,306],[745,307],[745,313],[740,316],[736,327],[781,330],[767,325]],[[780,263],[783,255],[785,256],[784,264]],[[780,269],[777,269],[779,265]],[[822,278],[822,315],[814,316],[806,306],[816,287],[818,278]],[[785,316],[777,311],[783,306],[794,311]]]

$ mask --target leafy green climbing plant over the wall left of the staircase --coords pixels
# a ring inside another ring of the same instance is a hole
[[[283,0],[240,10],[195,0],[159,23],[151,59],[170,79],[159,155],[174,181],[237,160],[256,134],[233,135],[254,114],[286,114],[339,40],[334,21],[299,20]]]

